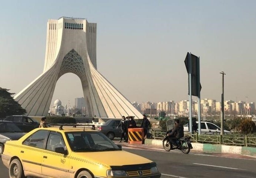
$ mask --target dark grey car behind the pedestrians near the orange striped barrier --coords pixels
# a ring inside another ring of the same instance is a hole
[[[115,137],[121,137],[121,127],[117,126],[120,124],[121,120],[110,119],[106,121],[103,125],[98,125],[97,129],[105,134],[110,140],[113,140]]]

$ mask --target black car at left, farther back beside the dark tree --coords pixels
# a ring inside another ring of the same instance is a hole
[[[38,121],[24,115],[10,115],[4,118],[4,121],[12,121],[23,132],[30,132],[40,125]]]

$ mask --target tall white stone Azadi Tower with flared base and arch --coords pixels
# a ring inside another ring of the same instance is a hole
[[[27,114],[46,116],[61,75],[76,74],[82,83],[86,114],[121,118],[141,113],[97,71],[96,23],[61,17],[48,20],[44,71],[14,98]]]

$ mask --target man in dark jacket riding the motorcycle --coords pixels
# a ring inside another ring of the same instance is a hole
[[[176,140],[179,138],[184,137],[184,128],[183,125],[180,124],[180,121],[178,119],[174,120],[174,127],[172,130],[168,131],[166,134],[169,136],[169,139],[174,147],[177,147]],[[171,145],[171,146],[172,146]]]

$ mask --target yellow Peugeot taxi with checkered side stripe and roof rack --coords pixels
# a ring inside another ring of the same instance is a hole
[[[36,128],[7,141],[2,154],[10,178],[159,178],[156,163],[123,151],[88,127]]]

